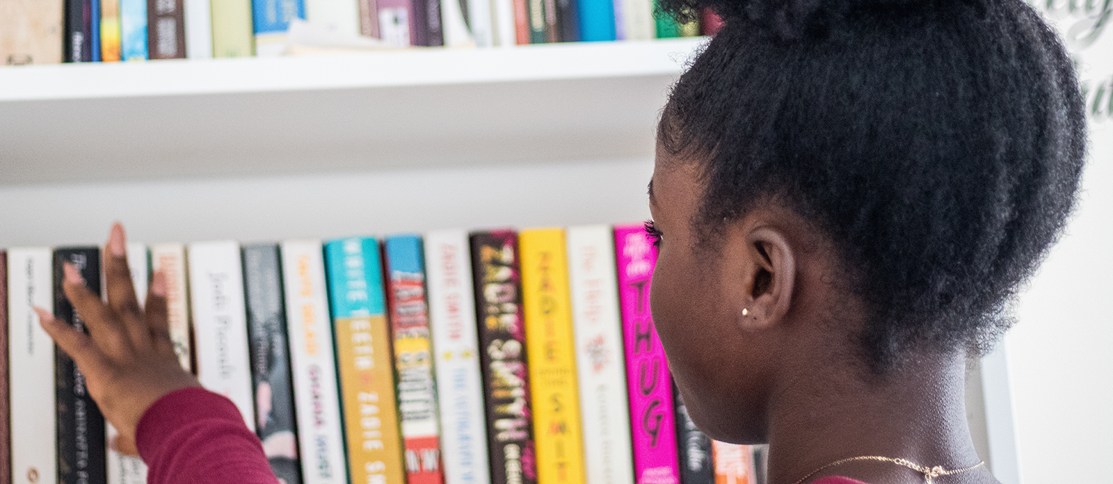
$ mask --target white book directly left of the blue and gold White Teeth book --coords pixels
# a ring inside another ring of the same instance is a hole
[[[286,240],[280,248],[302,478],[346,484],[324,251],[321,240]]]

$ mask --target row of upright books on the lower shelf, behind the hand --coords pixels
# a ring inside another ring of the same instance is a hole
[[[236,404],[286,484],[762,480],[760,448],[712,443],[688,418],[641,226],[127,250],[137,294],[166,277],[183,367]],[[115,431],[32,310],[81,327],[62,266],[99,293],[101,257],[0,251],[12,483],[146,482],[106,446]]]

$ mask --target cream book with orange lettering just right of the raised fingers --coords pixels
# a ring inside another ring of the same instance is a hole
[[[159,244],[150,247],[151,270],[166,279],[166,316],[170,340],[181,367],[194,372],[193,337],[189,324],[189,280],[186,275],[186,246]],[[196,373],[196,372],[195,372]]]

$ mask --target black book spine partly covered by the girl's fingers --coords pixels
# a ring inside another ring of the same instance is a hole
[[[62,292],[62,265],[77,267],[86,286],[100,294],[100,249],[72,247],[55,250],[55,317],[85,332],[85,322]],[[55,399],[57,404],[58,482],[63,484],[107,483],[105,468],[105,417],[89,396],[85,377],[73,359],[55,348]]]

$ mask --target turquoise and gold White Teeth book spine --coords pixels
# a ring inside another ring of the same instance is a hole
[[[405,482],[378,240],[325,245],[351,482]]]

